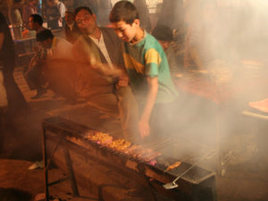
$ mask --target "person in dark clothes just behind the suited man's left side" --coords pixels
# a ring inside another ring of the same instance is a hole
[[[71,11],[65,12],[65,21],[65,38],[73,44],[78,38],[80,38],[81,32],[74,21],[74,14]]]

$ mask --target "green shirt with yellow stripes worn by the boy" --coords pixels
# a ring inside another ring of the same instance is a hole
[[[173,85],[169,64],[162,46],[145,31],[138,43],[123,43],[123,59],[130,76],[130,86],[138,101],[145,102],[148,93],[147,77],[157,77],[156,104],[172,103],[178,96]]]

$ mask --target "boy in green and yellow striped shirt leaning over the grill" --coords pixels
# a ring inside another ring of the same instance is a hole
[[[157,131],[161,133],[163,126],[168,127],[166,122],[170,122],[166,109],[178,96],[163,48],[146,30],[140,28],[137,9],[129,1],[114,4],[110,21],[117,36],[124,41],[124,63],[140,111],[139,134],[141,138],[150,135],[149,122],[153,122],[151,127],[158,127]],[[163,116],[162,112],[166,114]],[[161,119],[157,120],[157,116]]]

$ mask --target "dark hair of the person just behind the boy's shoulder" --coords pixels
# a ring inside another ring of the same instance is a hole
[[[172,41],[173,39],[172,29],[165,25],[157,25],[152,31],[152,35],[157,40]]]

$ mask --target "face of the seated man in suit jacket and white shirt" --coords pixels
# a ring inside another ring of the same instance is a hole
[[[82,33],[93,34],[96,29],[96,15],[91,15],[87,10],[80,10],[75,16],[75,21]]]

